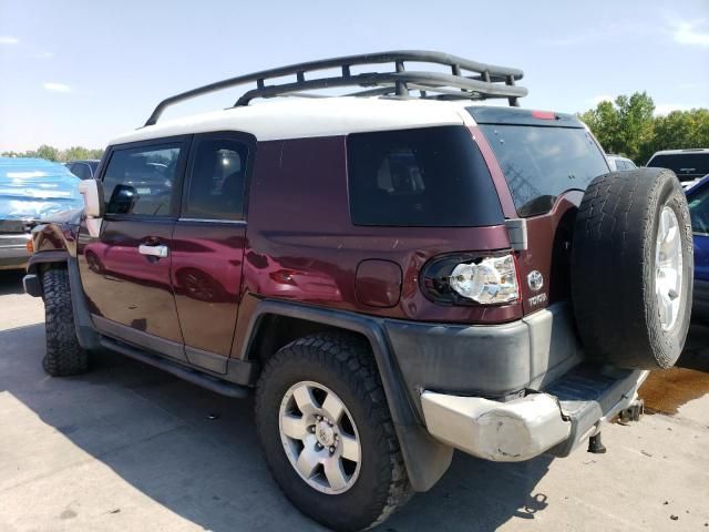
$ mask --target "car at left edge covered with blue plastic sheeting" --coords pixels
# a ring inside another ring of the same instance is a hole
[[[79,182],[59,163],[0,157],[0,269],[24,267],[37,222],[83,208]]]

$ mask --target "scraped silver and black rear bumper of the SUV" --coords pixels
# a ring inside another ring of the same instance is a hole
[[[425,390],[421,403],[438,440],[485,460],[518,462],[544,452],[567,456],[637,401],[647,375],[582,367],[544,393],[507,402]]]

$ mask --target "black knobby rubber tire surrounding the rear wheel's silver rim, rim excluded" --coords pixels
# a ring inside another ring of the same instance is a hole
[[[281,400],[292,385],[305,380],[333,390],[358,428],[361,469],[356,483],[343,493],[327,494],[308,485],[281,444]],[[379,374],[362,338],[318,334],[281,348],[268,360],[257,385],[256,426],[268,467],[285,495],[304,514],[330,529],[376,526],[412,494]]]

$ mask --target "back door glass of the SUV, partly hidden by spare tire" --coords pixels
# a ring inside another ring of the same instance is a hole
[[[559,194],[585,191],[608,172],[600,150],[580,127],[482,124],[520,216],[551,211]]]

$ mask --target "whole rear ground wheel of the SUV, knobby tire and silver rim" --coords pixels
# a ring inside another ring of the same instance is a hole
[[[314,335],[280,349],[258,381],[256,423],[286,497],[335,530],[374,526],[411,493],[363,339]]]

